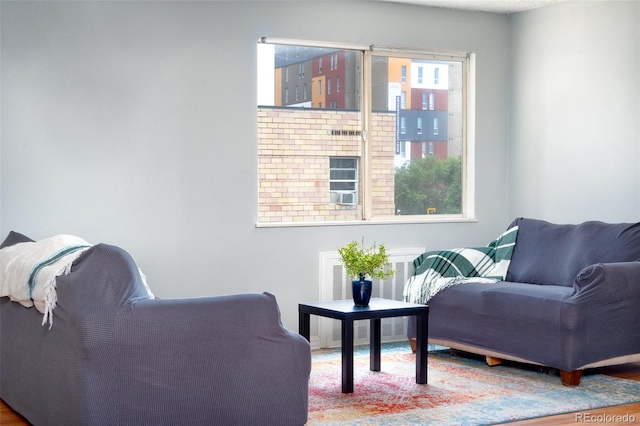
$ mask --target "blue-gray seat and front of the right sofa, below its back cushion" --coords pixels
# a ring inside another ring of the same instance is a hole
[[[429,302],[429,338],[548,365],[562,341],[563,301],[572,291],[504,281],[450,287]]]

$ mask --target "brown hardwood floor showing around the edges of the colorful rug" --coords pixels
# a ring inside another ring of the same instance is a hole
[[[612,377],[640,381],[640,363],[624,364],[613,367],[595,368],[585,372],[586,374],[606,374]],[[598,417],[605,416],[605,417]],[[617,417],[620,416],[620,417]],[[625,418],[626,416],[626,418]],[[618,421],[616,421],[618,420]],[[578,423],[596,424],[622,424],[640,425],[640,402],[635,404],[618,405],[597,410],[588,410],[578,413],[560,414],[557,416],[542,417],[538,419],[512,422],[511,425],[575,425]],[[2,426],[29,426],[22,416],[0,400],[0,425]]]

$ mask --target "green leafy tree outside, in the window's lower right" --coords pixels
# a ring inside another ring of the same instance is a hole
[[[462,212],[462,159],[428,156],[396,169],[395,203],[399,214]]]

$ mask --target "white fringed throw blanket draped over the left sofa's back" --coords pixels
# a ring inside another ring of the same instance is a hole
[[[71,265],[91,244],[72,235],[57,235],[36,242],[20,243],[0,250],[0,296],[23,306],[35,306],[44,314],[42,325],[53,325],[57,303],[56,278],[71,271]]]

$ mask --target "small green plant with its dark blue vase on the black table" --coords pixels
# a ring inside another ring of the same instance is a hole
[[[381,280],[392,277],[395,270],[390,268],[389,254],[384,244],[369,248],[362,243],[351,241],[349,244],[338,249],[340,259],[344,265],[347,276],[353,281],[353,302],[356,306],[367,306],[371,299],[373,283],[371,278]],[[368,278],[368,279],[367,279]]]

